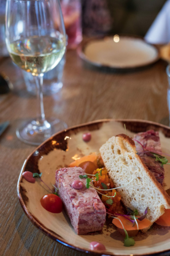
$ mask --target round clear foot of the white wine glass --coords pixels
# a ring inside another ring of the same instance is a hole
[[[24,143],[38,146],[51,137],[52,134],[68,127],[62,120],[53,117],[47,118],[46,122],[49,124],[49,129],[44,129],[44,126],[37,127],[36,119],[27,120],[22,123],[16,130],[18,139]]]

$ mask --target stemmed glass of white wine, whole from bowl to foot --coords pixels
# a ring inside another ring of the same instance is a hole
[[[5,28],[13,62],[32,73],[37,88],[37,118],[22,124],[16,134],[23,142],[39,145],[67,128],[59,119],[45,118],[42,93],[44,73],[60,62],[66,48],[60,0],[7,0]]]

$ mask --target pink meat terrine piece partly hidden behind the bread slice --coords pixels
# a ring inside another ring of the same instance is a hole
[[[162,185],[165,174],[164,167],[159,161],[156,161],[156,158],[153,156],[153,154],[149,152],[141,154],[143,152],[143,148],[140,145],[141,143],[146,148],[146,150],[151,152],[158,152],[158,154],[162,152],[158,131],[148,130],[146,132],[139,132],[135,134],[134,139],[137,140],[135,141],[135,145],[138,154],[140,153],[139,155],[145,162],[148,169],[153,173],[156,180]]]

